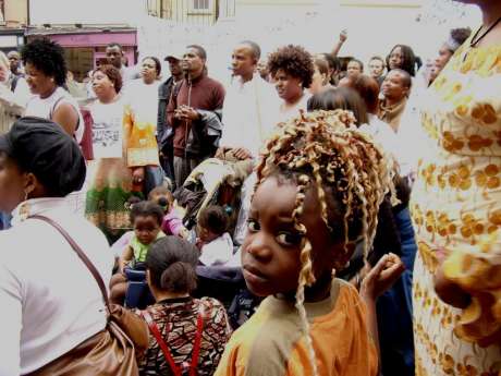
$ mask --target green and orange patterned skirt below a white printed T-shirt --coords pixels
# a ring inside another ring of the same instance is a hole
[[[132,172],[122,158],[89,161],[87,187],[85,216],[113,243],[132,228],[129,199],[143,194],[133,191]]]

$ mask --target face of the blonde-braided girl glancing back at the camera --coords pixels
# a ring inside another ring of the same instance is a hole
[[[297,289],[304,239],[292,220],[296,193],[294,183],[270,177],[254,194],[242,246],[242,267],[248,289],[258,296],[293,294]],[[317,278],[331,274],[339,247],[320,213],[316,190],[309,190],[300,220],[313,247],[310,257]]]

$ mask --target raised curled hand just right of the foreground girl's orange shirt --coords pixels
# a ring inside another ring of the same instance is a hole
[[[382,256],[362,281],[361,295],[376,301],[402,276],[405,266],[393,253]]]

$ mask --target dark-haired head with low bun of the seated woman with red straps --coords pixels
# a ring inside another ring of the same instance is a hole
[[[179,236],[166,236],[151,245],[146,256],[152,290],[190,293],[196,288],[198,250]]]

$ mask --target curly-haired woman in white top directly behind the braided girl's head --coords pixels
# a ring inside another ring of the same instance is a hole
[[[268,70],[274,86],[282,99],[280,121],[297,116],[297,111],[306,107],[315,66],[313,58],[303,47],[289,45],[279,48],[268,58]]]

